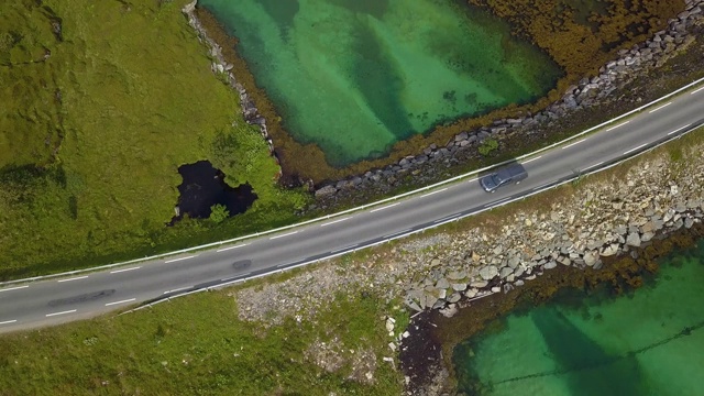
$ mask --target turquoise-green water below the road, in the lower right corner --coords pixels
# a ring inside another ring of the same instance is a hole
[[[565,294],[455,348],[468,395],[704,395],[704,242],[627,296]]]

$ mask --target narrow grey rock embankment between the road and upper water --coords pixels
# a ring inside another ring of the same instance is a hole
[[[530,136],[579,110],[610,103],[618,99],[614,92],[637,76],[647,75],[652,69],[661,67],[668,59],[686,50],[702,34],[703,9],[704,0],[686,0],[684,11],[668,21],[667,30],[657,32],[652,38],[632,48],[622,50],[618,58],[604,65],[598,75],[585,77],[576,86],[568,88],[560,100],[543,111],[515,119],[496,120],[491,127],[461,132],[444,146],[432,144],[422,153],[404,157],[383,169],[372,169],[363,175],[321,186],[316,190],[316,197],[322,206],[328,206],[328,202],[356,196],[360,190],[391,191],[408,175],[413,175],[417,184],[435,180],[439,169],[463,163],[471,157],[479,157],[477,148],[488,140],[495,140],[501,144],[512,136]]]

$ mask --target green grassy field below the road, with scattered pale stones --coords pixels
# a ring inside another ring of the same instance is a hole
[[[264,328],[239,320],[226,290],[8,334],[0,394],[399,395],[403,375],[383,361],[394,356],[384,311],[374,297],[340,296],[315,318]],[[330,355],[314,352],[320,342]],[[338,369],[322,369],[320,356]]]

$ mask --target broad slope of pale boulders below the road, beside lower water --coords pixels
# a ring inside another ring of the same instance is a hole
[[[507,293],[559,265],[598,270],[603,257],[637,258],[635,248],[702,222],[704,161],[696,157],[686,175],[664,160],[644,162],[624,179],[590,186],[548,211],[515,215],[498,232],[466,232],[453,244],[459,256],[435,258],[437,265],[408,288],[406,304],[451,315],[463,298]]]

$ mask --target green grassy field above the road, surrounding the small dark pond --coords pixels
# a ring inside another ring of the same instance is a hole
[[[246,234],[306,205],[276,186],[278,167],[210,72],[186,2],[0,6],[0,279]],[[224,223],[166,228],[177,168],[200,160],[258,199]]]

